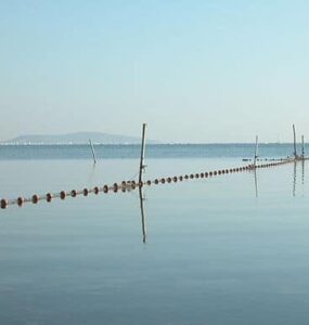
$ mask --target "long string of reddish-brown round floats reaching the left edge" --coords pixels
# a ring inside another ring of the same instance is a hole
[[[304,158],[305,160],[305,158]],[[261,164],[261,165],[247,165],[241,166],[235,168],[229,169],[218,169],[211,171],[205,171],[199,173],[186,173],[181,176],[173,176],[173,177],[166,177],[166,178],[157,178],[154,180],[147,181],[123,181],[120,183],[114,183],[113,185],[104,184],[103,186],[94,186],[91,188],[83,188],[83,190],[72,190],[72,191],[61,191],[59,193],[47,193],[44,195],[34,194],[30,197],[23,197],[18,196],[15,199],[1,199],[1,209],[7,209],[11,205],[17,205],[18,207],[23,207],[27,203],[38,204],[39,202],[47,202],[51,203],[52,200],[60,198],[62,200],[66,199],[67,197],[77,197],[77,196],[88,196],[90,194],[99,195],[100,193],[118,193],[118,192],[127,192],[132,191],[143,186],[151,186],[151,185],[158,185],[158,184],[169,184],[189,180],[196,180],[196,179],[208,179],[219,176],[226,176],[229,173],[239,173],[243,171],[252,171],[259,168],[271,168],[280,165],[291,164],[294,162],[295,159],[281,159],[274,162],[269,164]]]

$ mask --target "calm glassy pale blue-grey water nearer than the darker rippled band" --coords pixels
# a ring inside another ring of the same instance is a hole
[[[147,159],[145,179],[241,166]],[[1,196],[136,174],[137,159],[2,160]],[[17,172],[18,171],[18,172]],[[0,211],[1,324],[307,324],[308,165]]]

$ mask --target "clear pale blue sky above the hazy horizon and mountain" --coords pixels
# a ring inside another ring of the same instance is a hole
[[[309,141],[309,1],[0,0],[0,141]]]

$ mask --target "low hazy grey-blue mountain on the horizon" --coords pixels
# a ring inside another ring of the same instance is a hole
[[[27,134],[1,142],[2,144],[85,144],[89,140],[101,144],[136,144],[141,143],[141,138],[110,134],[101,132],[76,132],[67,134]],[[147,143],[158,143],[146,140]]]

